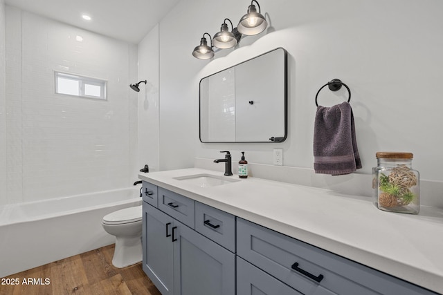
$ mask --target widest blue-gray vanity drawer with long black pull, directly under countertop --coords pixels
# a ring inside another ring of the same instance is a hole
[[[303,294],[434,294],[241,218],[237,255]]]

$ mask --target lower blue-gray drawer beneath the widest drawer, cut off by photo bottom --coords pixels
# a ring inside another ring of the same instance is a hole
[[[237,294],[302,295],[239,257],[237,257]]]

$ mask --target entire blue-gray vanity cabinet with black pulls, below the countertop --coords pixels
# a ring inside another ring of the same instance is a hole
[[[143,182],[143,270],[163,295],[436,295]]]

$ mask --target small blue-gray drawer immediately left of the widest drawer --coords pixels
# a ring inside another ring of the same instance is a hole
[[[235,253],[235,216],[195,202],[195,230]]]

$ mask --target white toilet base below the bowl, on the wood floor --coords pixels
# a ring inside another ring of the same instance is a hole
[[[114,249],[112,265],[123,268],[139,263],[141,260],[141,236],[116,238],[116,249]]]

